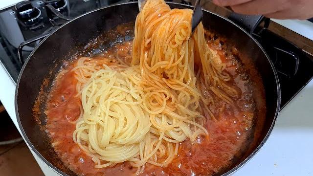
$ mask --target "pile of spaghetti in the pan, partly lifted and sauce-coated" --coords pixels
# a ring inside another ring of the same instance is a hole
[[[237,91],[225,83],[225,65],[202,24],[191,36],[191,16],[148,0],[136,18],[131,66],[82,57],[72,69],[82,101],[73,140],[96,168],[128,161],[140,174],[146,163],[166,166],[180,142],[208,137],[201,110],[210,112],[214,100],[201,87],[232,103]]]

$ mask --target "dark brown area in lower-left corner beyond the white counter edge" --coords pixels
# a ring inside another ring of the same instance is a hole
[[[0,176],[44,176],[1,102]]]

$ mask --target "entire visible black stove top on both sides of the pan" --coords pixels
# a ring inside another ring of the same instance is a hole
[[[25,58],[50,31],[69,18],[128,1],[133,0],[31,0],[1,10],[0,61],[16,82]],[[267,28],[256,29],[253,37],[265,48],[278,72],[284,107],[312,79],[313,56]]]

